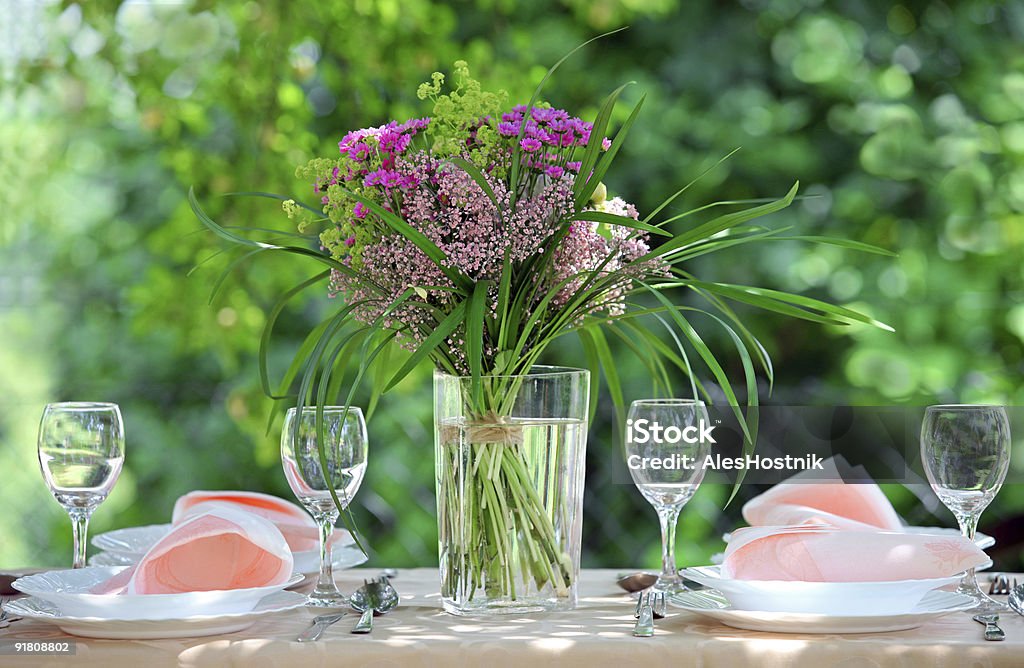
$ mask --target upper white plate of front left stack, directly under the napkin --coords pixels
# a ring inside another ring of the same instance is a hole
[[[42,598],[71,617],[103,619],[165,619],[168,611],[180,617],[248,613],[261,598],[302,580],[296,573],[284,584],[248,589],[189,591],[179,594],[93,594],[92,587],[105,582],[125,567],[88,567],[75,571],[49,571],[18,578],[11,587]]]

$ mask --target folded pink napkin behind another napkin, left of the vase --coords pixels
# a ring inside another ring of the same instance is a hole
[[[304,552],[319,547],[319,529],[309,513],[290,501],[259,492],[189,492],[175,502],[171,521],[177,525],[196,514],[225,505],[272,521],[281,530],[293,552]],[[338,544],[348,538],[348,532],[336,531],[331,537],[331,542]]]

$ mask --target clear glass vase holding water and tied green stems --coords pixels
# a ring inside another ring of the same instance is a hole
[[[441,601],[455,615],[571,610],[590,373],[434,374]]]

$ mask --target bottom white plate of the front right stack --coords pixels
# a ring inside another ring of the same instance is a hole
[[[686,591],[669,597],[674,608],[696,613],[737,629],[771,633],[884,633],[918,628],[933,619],[970,610],[970,596],[932,591],[918,606],[899,615],[812,615],[737,610],[714,589]]]

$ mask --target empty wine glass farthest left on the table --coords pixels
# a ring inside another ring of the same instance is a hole
[[[125,461],[125,429],[117,404],[47,404],[39,423],[39,467],[50,494],[71,516],[72,568],[85,566],[89,517],[114,489]]]

